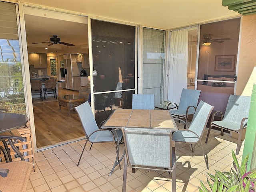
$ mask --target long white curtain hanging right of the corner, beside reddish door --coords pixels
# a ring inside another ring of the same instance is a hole
[[[180,103],[183,88],[187,88],[188,29],[170,32],[170,71],[168,100]]]

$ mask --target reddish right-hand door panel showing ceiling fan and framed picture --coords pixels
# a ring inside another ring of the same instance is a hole
[[[197,89],[199,100],[225,112],[234,94],[240,18],[201,25]]]

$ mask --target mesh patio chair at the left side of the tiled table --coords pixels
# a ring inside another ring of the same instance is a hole
[[[122,131],[99,129],[95,121],[95,118],[92,114],[92,109],[88,101],[75,107],[75,109],[76,109],[76,112],[78,113],[78,117],[80,119],[82,127],[84,128],[84,133],[86,136],[86,142],[84,144],[84,148],[82,150],[77,166],[80,163],[80,160],[84,153],[84,149],[88,141],[91,143],[115,142],[116,153],[119,154],[119,143],[122,138]],[[118,161],[119,161],[119,158],[118,158]],[[119,164],[119,167],[121,169],[120,164]]]

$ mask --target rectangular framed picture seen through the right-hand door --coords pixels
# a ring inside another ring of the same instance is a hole
[[[236,55],[216,55],[214,71],[234,71]]]

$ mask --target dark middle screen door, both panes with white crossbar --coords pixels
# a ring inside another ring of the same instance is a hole
[[[101,122],[109,115],[109,112],[105,114],[106,110],[132,106],[136,76],[136,27],[92,19],[91,28],[94,74],[92,93],[95,98],[95,118]],[[110,95],[111,103],[108,102]],[[97,106],[98,109],[104,106],[105,110],[96,110]]]

